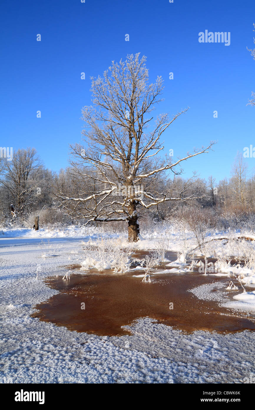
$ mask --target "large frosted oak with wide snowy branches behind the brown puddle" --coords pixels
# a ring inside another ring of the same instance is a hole
[[[190,182],[178,192],[174,187],[151,191],[153,182],[171,170],[174,175],[182,172],[176,168],[182,161],[206,153],[213,142],[205,148],[187,153],[172,161],[161,158],[164,149],[160,137],[170,124],[187,109],[171,119],[167,114],[157,116],[155,125],[149,115],[155,105],[162,101],[163,81],[149,84],[146,57],[128,55],[125,62],[112,62],[104,77],[91,78],[94,106],[83,107],[85,121],[83,130],[86,146],[71,146],[74,160],[72,166],[90,167],[83,178],[86,184],[79,196],[70,197],[65,192],[58,196],[62,206],[83,205],[83,217],[89,221],[127,221],[129,241],[139,239],[138,207],[149,209],[166,201],[189,202],[196,194],[186,195]],[[73,209],[73,208],[72,208]]]

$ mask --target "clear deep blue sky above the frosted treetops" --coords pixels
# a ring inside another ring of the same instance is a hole
[[[4,0],[0,146],[33,146],[45,166],[65,168],[69,144],[81,141],[90,76],[141,52],[150,81],[165,80],[158,112],[190,107],[165,133],[165,152],[183,156],[218,140],[214,152],[183,164],[185,176],[197,170],[202,178],[229,177],[237,150],[255,147],[255,107],[246,106],[255,91],[255,61],[246,50],[255,47],[254,22],[254,0]],[[199,43],[205,30],[230,32],[230,46]],[[255,158],[246,160],[252,170]]]

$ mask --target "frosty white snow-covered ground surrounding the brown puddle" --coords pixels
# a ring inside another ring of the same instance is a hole
[[[253,332],[221,335],[195,331],[186,335],[143,318],[130,327],[131,336],[99,337],[30,317],[34,305],[57,293],[42,279],[64,276],[65,265],[84,259],[81,241],[96,241],[101,236],[119,237],[104,232],[101,235],[94,228],[75,227],[0,231],[0,380],[243,383],[249,377],[255,362]],[[151,249],[159,236],[158,232],[152,233],[138,246]],[[126,243],[125,237],[122,240]],[[172,232],[169,249],[178,251],[180,246],[181,236]],[[203,298],[203,292],[200,294]]]

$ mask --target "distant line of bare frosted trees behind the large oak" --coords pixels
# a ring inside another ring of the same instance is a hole
[[[90,175],[90,178],[89,178]],[[41,223],[85,224],[87,206],[82,201],[66,202],[61,192],[69,198],[80,198],[93,192],[95,170],[72,162],[59,173],[43,166],[34,148],[14,151],[13,160],[0,159],[0,222],[2,225],[21,225],[31,219],[31,228],[36,215],[43,214]],[[187,203],[165,202],[156,209],[142,209],[140,218],[153,222],[167,221],[178,215],[183,207],[196,205],[224,214],[226,212],[255,212],[255,175],[248,175],[247,164],[238,153],[232,165],[231,178],[216,182],[211,175],[208,180],[194,175],[190,179],[175,175],[165,176],[150,184],[152,194],[159,190],[171,192],[185,191],[192,198]]]

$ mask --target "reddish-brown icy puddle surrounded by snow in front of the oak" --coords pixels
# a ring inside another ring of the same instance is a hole
[[[170,274],[154,276],[149,284],[131,275],[107,271],[104,275],[73,273],[69,281],[48,278],[47,285],[60,293],[37,305],[33,317],[77,332],[109,336],[130,334],[122,326],[139,317],[151,317],[186,332],[255,330],[252,317],[237,317],[216,302],[201,301],[188,292],[204,283],[226,283],[226,278],[205,279],[199,273]],[[81,303],[85,303],[84,310]],[[173,310],[169,310],[169,303],[174,304]]]

